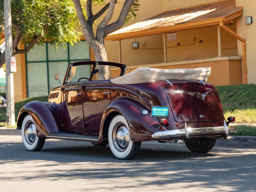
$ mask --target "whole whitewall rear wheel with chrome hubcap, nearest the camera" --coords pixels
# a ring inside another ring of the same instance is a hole
[[[128,123],[124,116],[116,115],[109,125],[108,142],[117,159],[128,160],[136,156],[141,142],[131,141]]]

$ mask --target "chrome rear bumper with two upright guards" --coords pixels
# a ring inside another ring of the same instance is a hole
[[[203,128],[188,128],[185,123],[185,129],[177,129],[170,131],[159,131],[152,134],[151,137],[154,139],[167,139],[171,137],[186,136],[188,139],[193,135],[205,135],[205,134],[218,134],[225,133],[228,136],[229,132],[236,132],[237,128],[235,126],[227,126],[226,121],[224,125],[220,127],[203,127]]]

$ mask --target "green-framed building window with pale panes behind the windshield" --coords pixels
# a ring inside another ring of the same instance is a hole
[[[73,46],[68,43],[66,49],[58,47],[57,52],[50,43],[35,45],[26,54],[27,96],[47,96],[52,87],[59,85],[54,75],[58,73],[62,83],[67,66],[73,61],[90,61],[90,47],[86,41],[74,43]],[[88,74],[85,76],[90,76],[90,66],[87,67]]]

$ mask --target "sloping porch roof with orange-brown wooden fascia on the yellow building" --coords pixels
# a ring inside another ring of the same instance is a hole
[[[148,35],[172,33],[220,23],[231,23],[243,15],[243,8],[235,0],[218,1],[193,7],[175,9],[150,17],[109,34],[105,39],[119,41]]]

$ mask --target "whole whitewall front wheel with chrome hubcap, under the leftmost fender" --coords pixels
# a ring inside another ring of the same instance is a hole
[[[40,151],[44,146],[45,138],[37,136],[34,120],[31,115],[26,115],[23,119],[21,137],[28,151]]]

